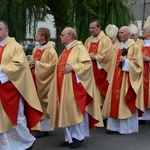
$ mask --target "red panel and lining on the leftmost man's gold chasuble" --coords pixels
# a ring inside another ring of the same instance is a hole
[[[5,46],[1,47],[0,63],[4,49]],[[17,125],[20,93],[11,83],[11,81],[8,81],[4,84],[0,83],[0,99],[6,114],[8,115],[12,123],[14,125]],[[26,101],[24,101],[24,114],[26,116],[27,126],[29,127],[29,129],[34,127],[40,121],[43,115],[42,112],[32,108]]]

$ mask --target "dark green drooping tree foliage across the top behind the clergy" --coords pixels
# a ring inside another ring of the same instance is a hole
[[[134,0],[127,1],[133,3]],[[103,30],[108,24],[120,27],[134,21],[124,0],[1,0],[0,4],[0,18],[8,22],[11,35],[17,39],[25,37],[28,24],[34,22],[36,26],[41,14],[53,15],[58,53],[62,51],[59,36],[66,26],[76,28],[78,39],[84,42],[89,36],[89,22],[93,19],[101,21]]]

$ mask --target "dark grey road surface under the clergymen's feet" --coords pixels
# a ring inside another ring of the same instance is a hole
[[[130,135],[106,134],[105,128],[91,129],[78,150],[150,150],[150,123],[140,125],[140,132]],[[60,147],[64,142],[61,128],[49,132],[49,136],[37,139],[33,150],[71,150]]]

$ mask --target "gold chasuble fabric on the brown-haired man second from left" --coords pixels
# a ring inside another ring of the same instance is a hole
[[[39,46],[36,46],[33,49],[32,55],[33,58],[37,49],[39,49]],[[42,49],[42,51],[43,53],[40,60],[36,62],[35,80],[38,97],[44,112],[42,119],[45,119],[48,118],[47,114],[48,91],[54,77],[58,56],[56,50],[54,49],[53,44],[51,43],[46,44]]]

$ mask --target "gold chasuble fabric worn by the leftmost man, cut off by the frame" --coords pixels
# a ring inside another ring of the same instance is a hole
[[[22,46],[14,38],[8,38],[4,45],[6,47],[2,54],[0,68],[30,107],[42,114],[42,108]],[[40,118],[32,130],[40,130]],[[32,120],[34,119],[32,118]],[[0,133],[4,133],[12,128],[15,128],[15,125],[8,117],[0,101]]]

